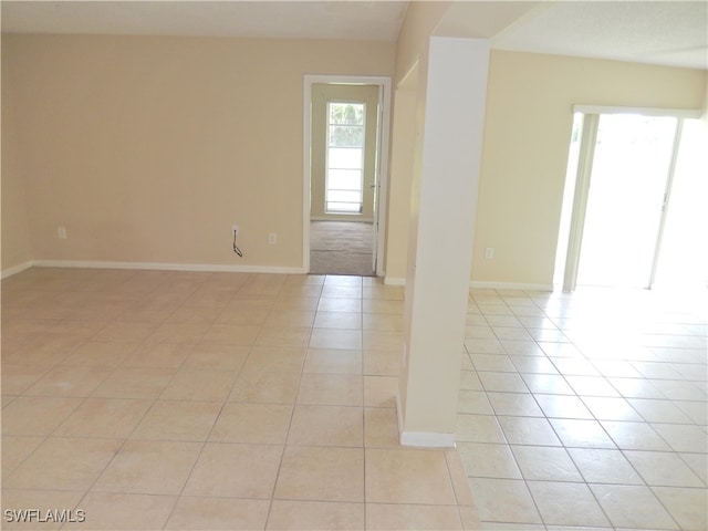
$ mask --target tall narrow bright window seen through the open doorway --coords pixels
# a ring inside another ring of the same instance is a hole
[[[327,103],[327,214],[362,214],[365,114],[364,103]]]

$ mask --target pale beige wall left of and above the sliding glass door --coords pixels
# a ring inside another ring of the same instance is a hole
[[[704,71],[493,52],[472,280],[552,284],[573,104],[700,108],[705,87]]]

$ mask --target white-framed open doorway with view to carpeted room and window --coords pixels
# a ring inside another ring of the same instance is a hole
[[[389,80],[305,76],[303,269],[383,275]]]

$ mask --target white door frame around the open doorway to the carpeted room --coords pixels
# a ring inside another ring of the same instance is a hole
[[[377,146],[376,205],[374,230],[378,237],[376,249],[376,277],[383,277],[384,256],[386,250],[386,207],[388,205],[388,145],[391,135],[391,77],[363,75],[305,75],[303,94],[303,185],[302,185],[302,270],[310,272],[310,189],[312,175],[312,85],[315,83],[337,83],[347,85],[378,85],[379,124]]]

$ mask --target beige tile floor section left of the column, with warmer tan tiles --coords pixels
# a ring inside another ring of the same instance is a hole
[[[458,452],[398,445],[402,305],[362,277],[4,280],[2,529],[477,529]]]

